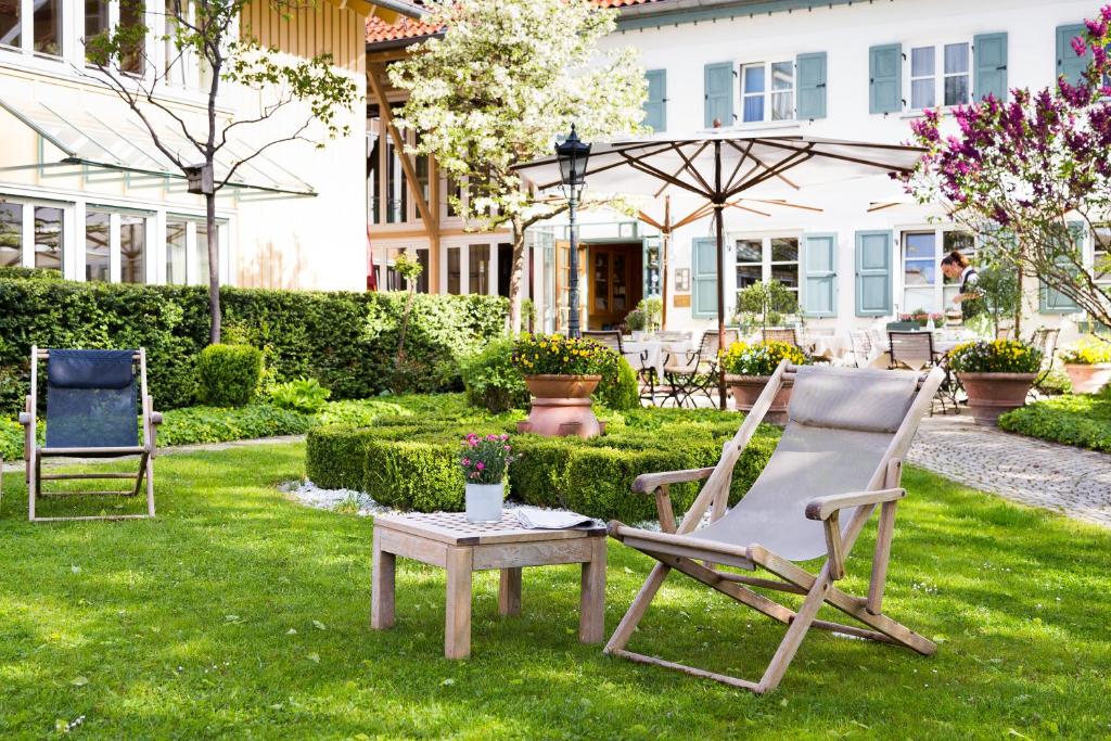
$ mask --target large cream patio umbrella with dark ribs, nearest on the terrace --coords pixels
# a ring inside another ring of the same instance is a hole
[[[595,143],[585,181],[603,193],[694,196],[713,211],[718,239],[718,339],[725,339],[724,223],[722,211],[740,198],[830,184],[870,174],[909,172],[924,150],[803,136],[711,133]],[[556,156],[517,168],[537,190],[560,184]],[[725,408],[724,372],[719,377]]]

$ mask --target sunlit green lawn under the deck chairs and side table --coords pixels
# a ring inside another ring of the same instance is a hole
[[[302,467],[301,444],[166,455],[157,520],[71,524],[29,524],[6,477],[0,737],[78,718],[88,738],[1111,735],[1105,530],[910,470],[885,604],[938,654],[812,631],[757,698],[579,644],[571,567],[527,570],[514,619],[479,575],[472,658],[448,662],[443,574],[399,561],[398,624],[372,632],[372,523],[279,493]],[[857,593],[872,530],[842,582]],[[609,555],[608,632],[651,565]],[[755,678],[781,635],[673,575],[630,648]]]

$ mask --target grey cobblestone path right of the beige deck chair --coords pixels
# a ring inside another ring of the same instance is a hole
[[[984,428],[967,415],[925,419],[911,463],[1023,504],[1111,528],[1111,455]]]

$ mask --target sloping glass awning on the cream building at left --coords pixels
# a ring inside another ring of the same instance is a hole
[[[36,162],[19,163],[14,168],[32,169],[80,166],[117,174],[140,176],[180,181],[184,190],[186,176],[151,141],[146,127],[134,121],[130,110],[119,103],[112,110],[71,110],[61,102],[17,101],[0,98],[0,108],[38,133],[40,146]],[[183,114],[182,114],[183,116]],[[184,162],[200,162],[197,148],[168,117],[158,132],[159,140]],[[187,123],[189,123],[187,121]],[[198,121],[190,131],[203,131]],[[60,157],[53,157],[57,149]],[[222,180],[236,161],[254,151],[254,147],[229,139],[216,157],[216,177]],[[316,191],[303,180],[280,164],[260,154],[239,167],[228,182],[228,192],[239,197],[251,191],[253,198],[313,197]]]

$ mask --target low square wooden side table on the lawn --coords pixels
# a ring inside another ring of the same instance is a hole
[[[397,557],[438,565],[448,571],[448,604],[443,655],[466,659],[471,652],[471,573],[501,570],[498,611],[521,612],[523,567],[582,564],[579,640],[602,640],[605,612],[605,528],[526,530],[509,512],[501,522],[474,524],[462,512],[383,514],[374,518],[374,567],[370,627],[393,625]]]

